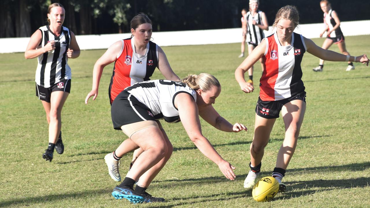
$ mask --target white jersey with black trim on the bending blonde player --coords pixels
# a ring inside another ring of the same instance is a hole
[[[170,80],[152,80],[136,83],[126,88],[125,91],[149,108],[155,119],[164,118],[169,123],[180,121],[179,111],[174,104],[177,94],[188,93],[196,101],[196,93],[192,88],[182,82]],[[129,98],[128,100],[130,100]]]

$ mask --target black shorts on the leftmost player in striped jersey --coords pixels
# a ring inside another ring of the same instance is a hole
[[[43,87],[36,83],[36,96],[39,100],[50,103],[51,93],[54,91],[71,92],[71,80],[60,80],[60,82],[51,85],[50,87]]]

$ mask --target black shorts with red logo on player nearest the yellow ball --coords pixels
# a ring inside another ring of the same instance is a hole
[[[263,101],[258,97],[258,102],[256,105],[256,114],[262,118],[279,118],[280,111],[283,105],[289,103],[293,100],[302,100],[306,103],[306,92],[303,91],[290,98],[285,98],[283,100],[276,101]]]

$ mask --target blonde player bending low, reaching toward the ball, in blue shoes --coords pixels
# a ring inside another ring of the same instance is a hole
[[[189,75],[174,82],[152,80],[136,83],[126,88],[112,103],[112,123],[122,130],[142,152],[123,182],[113,189],[116,199],[133,203],[163,202],[164,198],[152,197],[146,192],[151,181],[171,157],[173,147],[163,128],[156,120],[169,123],[181,121],[189,138],[210,160],[215,162],[226,178],[235,179],[229,162],[222,159],[211,143],[202,135],[201,116],[207,123],[221,131],[247,131],[243,124],[232,125],[213,108],[221,93],[219,81],[210,74]],[[134,188],[135,181],[137,185]]]

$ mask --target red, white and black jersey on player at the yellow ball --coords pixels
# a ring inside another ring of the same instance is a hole
[[[265,40],[266,51],[262,56],[265,70],[260,79],[261,100],[283,100],[303,92],[305,86],[300,64],[307,50],[303,36],[293,33],[289,46],[280,45],[276,32]]]

